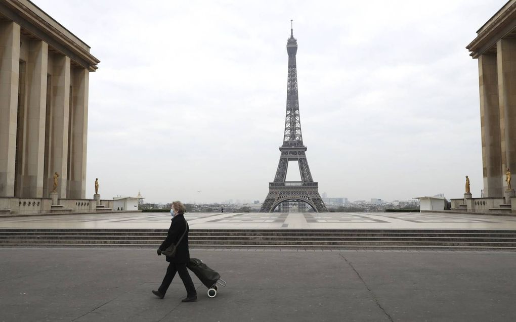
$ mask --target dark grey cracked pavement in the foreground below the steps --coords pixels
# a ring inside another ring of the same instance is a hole
[[[0,321],[514,321],[516,252],[191,249],[228,282],[182,303],[151,249],[0,248]]]

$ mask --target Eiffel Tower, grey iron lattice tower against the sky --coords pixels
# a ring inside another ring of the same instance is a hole
[[[292,20],[291,20],[292,24]],[[287,40],[288,76],[287,76],[287,111],[285,116],[285,132],[281,156],[274,182],[269,182],[269,194],[263,202],[260,212],[272,212],[287,200],[304,201],[317,212],[326,212],[326,206],[318,192],[317,182],[312,179],[301,135],[299,118],[299,98],[297,93],[296,53],[297,40],[291,26],[291,37]],[[285,181],[288,161],[298,161],[301,181]]]

